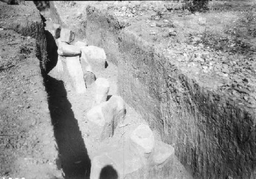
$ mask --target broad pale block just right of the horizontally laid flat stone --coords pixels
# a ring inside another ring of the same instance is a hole
[[[106,55],[103,48],[97,46],[84,46],[81,48],[81,58],[92,65],[93,70],[105,69]]]

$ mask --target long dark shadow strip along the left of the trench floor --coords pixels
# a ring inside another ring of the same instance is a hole
[[[90,178],[91,160],[62,81],[44,76],[48,105],[65,178]]]

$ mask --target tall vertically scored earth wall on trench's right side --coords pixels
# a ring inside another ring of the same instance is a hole
[[[112,15],[88,7],[86,21],[89,44],[104,48],[108,60],[118,66],[124,100],[164,142],[175,146],[179,160],[195,178],[256,177],[252,110],[188,78],[172,59]]]

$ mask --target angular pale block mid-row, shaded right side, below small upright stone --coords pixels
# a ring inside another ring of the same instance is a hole
[[[124,101],[120,96],[112,96],[87,113],[89,121],[99,126],[99,138],[103,140],[114,135],[117,124],[124,120],[125,114]]]

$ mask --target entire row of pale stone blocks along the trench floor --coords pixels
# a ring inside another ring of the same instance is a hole
[[[107,100],[110,83],[104,78],[96,79],[93,73],[105,68],[104,50],[79,41],[72,45],[70,43],[74,40],[73,37],[71,31],[66,29],[60,31],[60,38],[56,40],[58,54],[66,57],[65,63],[77,93],[86,92],[86,88],[94,84],[94,103],[87,112],[87,119],[97,127],[95,135],[103,141],[113,137],[120,121],[124,122],[125,103],[117,95],[112,95]],[[56,68],[58,71],[63,71],[61,60],[58,60]],[[137,126],[124,140],[124,145],[117,143],[94,156],[91,179],[100,178],[104,167],[113,168],[117,176],[115,178],[167,178],[170,176],[174,148],[155,140],[148,125]],[[112,177],[114,176],[110,176]]]

